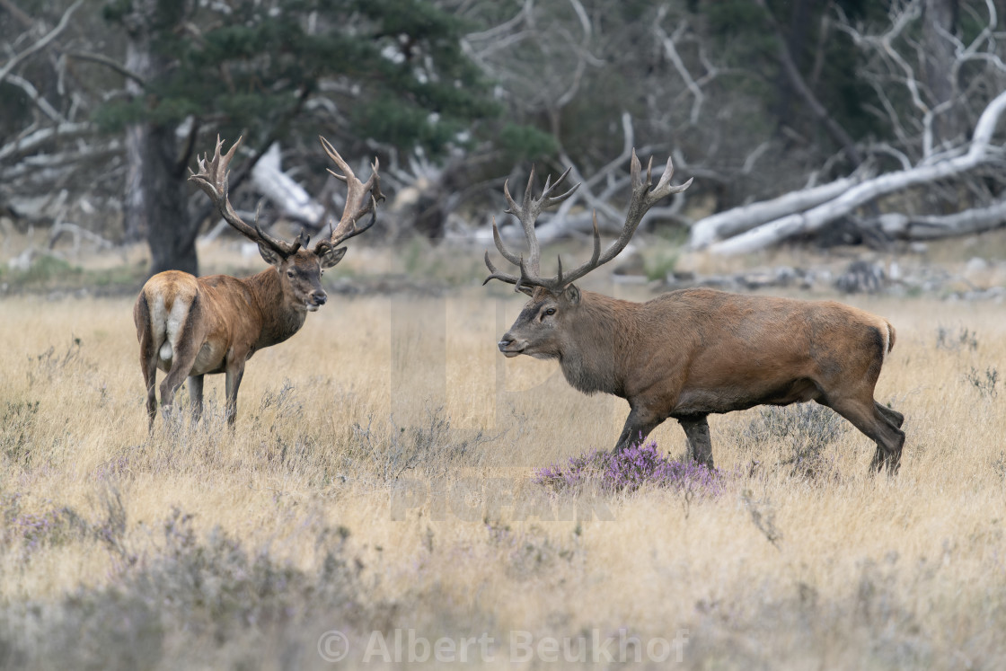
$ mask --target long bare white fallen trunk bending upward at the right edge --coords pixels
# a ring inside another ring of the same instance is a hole
[[[966,154],[868,179],[837,198],[806,212],[775,219],[729,239],[716,242],[709,249],[719,255],[757,251],[794,235],[820,230],[828,223],[850,214],[857,207],[882,195],[953,177],[973,170],[992,159],[1001,158],[1002,150],[998,147],[993,148],[991,141],[1004,110],[1006,110],[1006,92],[1000,93],[985,108],[975,125],[975,133]]]

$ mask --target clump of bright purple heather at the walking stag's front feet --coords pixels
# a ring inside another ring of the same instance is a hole
[[[718,496],[724,475],[701,464],[673,460],[661,454],[656,441],[613,454],[595,450],[570,457],[565,464],[537,469],[534,481],[555,491],[575,490],[595,483],[606,492],[635,492],[641,487]]]

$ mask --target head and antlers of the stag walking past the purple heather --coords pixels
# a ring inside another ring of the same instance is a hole
[[[510,195],[510,190],[506,183],[503,185],[503,195],[506,197],[509,208],[508,214],[513,214],[521,223],[524,229],[524,236],[527,239],[528,256],[525,260],[523,256],[512,253],[503,243],[500,237],[496,219],[493,218],[493,239],[496,248],[499,249],[503,258],[509,261],[520,270],[520,275],[510,275],[502,273],[489,259],[489,251],[486,251],[486,266],[489,268],[490,280],[500,280],[514,285],[515,291],[523,292],[530,297],[527,305],[521,311],[517,321],[514,322],[510,330],[504,334],[499,342],[500,351],[508,357],[519,354],[529,354],[538,358],[553,358],[559,355],[562,350],[562,340],[572,337],[572,322],[577,316],[580,308],[580,292],[573,283],[594,269],[607,264],[617,257],[632,239],[633,234],[639,227],[643,215],[658,200],[672,193],[684,191],[691,185],[689,179],[680,186],[671,185],[671,177],[674,175],[674,166],[671,159],[667,159],[667,166],[664,174],[656,186],[653,185],[652,178],[653,159],[650,159],[646,168],[646,178],[642,176],[642,165],[633,151],[632,162],[630,164],[632,196],[626,213],[626,220],[622,227],[622,232],[615,242],[612,243],[604,254],[601,251],[601,233],[598,231],[598,213],[594,213],[594,254],[590,261],[578,266],[572,271],[563,273],[562,260],[557,260],[558,273],[551,278],[542,278],[540,273],[541,249],[538,245],[537,235],[534,231],[534,224],[538,215],[546,207],[556,205],[575,192],[579,184],[575,184],[557,196],[552,195],[552,191],[565,179],[569,170],[562,173],[554,183],[550,179],[545,180],[545,186],[541,195],[534,199],[531,192],[534,186],[534,171],[527,182],[527,189],[524,191],[524,198],[521,204]]]

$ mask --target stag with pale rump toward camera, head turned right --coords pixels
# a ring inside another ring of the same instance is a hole
[[[237,412],[237,389],[244,362],[256,351],[281,343],[304,325],[307,313],[325,305],[328,296],[321,286],[324,269],[338,264],[346,254],[339,247],[345,240],[373,225],[380,192],[378,163],[374,161],[366,182],[353,174],[349,165],[325,138],[325,153],[343,174],[329,170],[346,183],[346,206],[331,236],[308,248],[302,231],[293,241],[277,239],[256,225],[241,220],[227,194],[227,167],[240,139],[224,155],[217,139],[216,151],[208,163],[199,159],[199,172],[189,179],[206,192],[224,220],[259,245],[263,260],[273,268],[249,278],[226,275],[196,278],[188,273],[166,271],[147,281],[133,308],[133,321],[140,341],[140,365],[147,383],[147,414],[150,428],[157,414],[154,393],[157,369],[167,372],[161,382],[161,407],[167,420],[175,391],[188,377],[192,416],[202,414],[202,378],[207,373],[226,373],[226,417],[233,425]],[[370,219],[357,226],[366,214]]]

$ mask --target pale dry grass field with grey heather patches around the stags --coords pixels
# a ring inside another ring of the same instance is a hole
[[[234,431],[213,376],[150,437],[131,298],[0,299],[0,667],[1004,668],[1004,309],[850,302],[897,329],[898,477],[754,408],[710,417],[702,496],[534,481],[628,406],[500,356],[503,287],[333,296]]]

